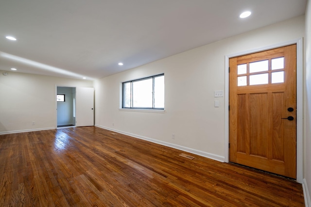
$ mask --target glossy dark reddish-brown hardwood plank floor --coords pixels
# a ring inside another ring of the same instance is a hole
[[[0,135],[0,207],[304,206],[293,180],[111,133]]]

